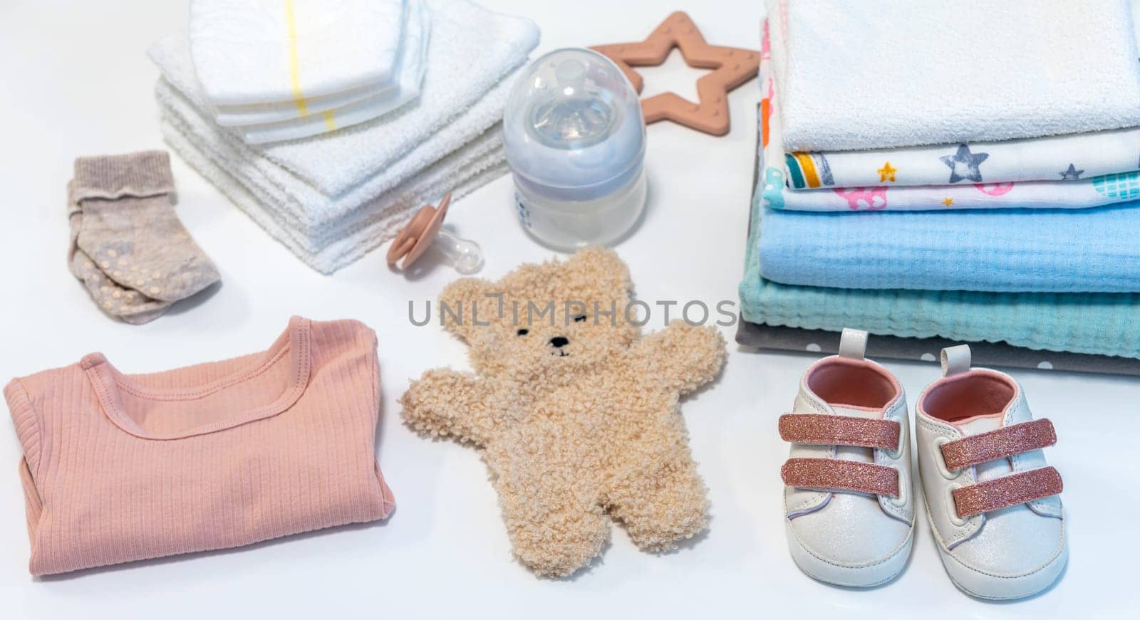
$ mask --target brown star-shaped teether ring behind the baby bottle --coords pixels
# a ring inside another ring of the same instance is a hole
[[[697,80],[699,103],[689,101],[676,92],[642,99],[645,124],[668,119],[705,133],[724,136],[728,132],[728,91],[756,78],[760,68],[758,51],[708,44],[683,11],[667,17],[644,41],[594,46],[591,49],[613,60],[634,90],[641,92],[644,81],[633,67],[660,65],[673,48],[681,50],[689,66],[715,71]]]

